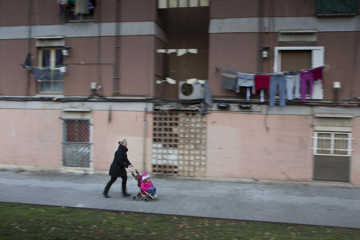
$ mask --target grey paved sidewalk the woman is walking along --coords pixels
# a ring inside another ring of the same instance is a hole
[[[156,175],[154,176],[156,177]],[[131,212],[360,228],[360,190],[153,178],[159,198],[145,203],[121,194],[119,178],[106,199],[109,176],[0,172],[0,201]],[[326,185],[324,185],[326,186]],[[130,193],[139,189],[128,178]],[[1,214],[0,214],[1,215]]]

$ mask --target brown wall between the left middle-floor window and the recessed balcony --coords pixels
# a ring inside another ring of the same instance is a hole
[[[120,94],[149,95],[150,70],[154,60],[150,56],[154,50],[153,36],[121,36],[120,50]],[[67,63],[96,63],[98,37],[75,37],[67,39],[72,47]],[[101,63],[114,63],[114,37],[101,37]],[[87,96],[90,82],[101,83],[98,65],[73,64],[66,73],[65,95]],[[114,65],[101,65],[103,94],[112,95]]]

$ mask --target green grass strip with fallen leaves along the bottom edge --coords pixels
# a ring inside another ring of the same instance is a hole
[[[0,203],[0,239],[354,240],[360,229]]]

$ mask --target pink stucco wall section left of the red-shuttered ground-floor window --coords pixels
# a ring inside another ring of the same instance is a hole
[[[61,110],[0,109],[0,163],[61,167]]]

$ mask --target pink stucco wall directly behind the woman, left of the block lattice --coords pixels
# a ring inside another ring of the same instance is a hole
[[[94,169],[109,170],[117,142],[126,139],[129,149],[127,157],[139,172],[143,172],[144,112],[112,111],[111,122],[108,122],[108,111],[92,111],[92,116]],[[148,156],[151,156],[152,128],[150,124],[148,124],[150,127],[147,127]]]

